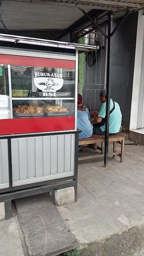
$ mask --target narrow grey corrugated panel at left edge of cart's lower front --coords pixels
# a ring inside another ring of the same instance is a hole
[[[0,188],[9,182],[8,140],[0,140]],[[8,186],[6,186],[8,187]]]

